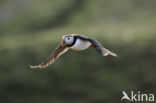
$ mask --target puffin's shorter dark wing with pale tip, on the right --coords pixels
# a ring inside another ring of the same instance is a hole
[[[112,55],[115,57],[118,57],[117,54],[109,51],[108,49],[104,48],[98,41],[93,40],[93,39],[88,39],[88,41],[90,41],[90,43],[92,44],[92,46],[102,55],[102,56],[108,56],[108,55]]]

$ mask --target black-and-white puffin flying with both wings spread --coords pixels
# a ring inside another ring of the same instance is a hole
[[[95,48],[102,56],[115,56],[118,55],[104,48],[98,41],[88,38],[86,36],[81,36],[78,34],[66,35],[61,39],[61,44],[52,52],[52,54],[41,64],[37,66],[30,66],[30,68],[46,68],[53,64],[59,56],[64,54],[68,49],[80,51],[87,48]]]

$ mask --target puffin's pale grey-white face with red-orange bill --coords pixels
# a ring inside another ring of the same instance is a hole
[[[63,36],[61,40],[61,45],[62,46],[69,46],[74,42],[74,37],[73,36]]]

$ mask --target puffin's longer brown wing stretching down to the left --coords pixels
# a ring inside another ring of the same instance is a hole
[[[59,56],[61,56],[63,53],[65,53],[68,50],[67,47],[59,45],[53,52],[52,54],[45,60],[43,61],[40,65],[37,66],[30,66],[30,68],[46,68],[53,64]]]

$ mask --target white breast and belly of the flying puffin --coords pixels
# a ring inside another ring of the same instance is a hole
[[[88,41],[77,39],[75,44],[70,48],[73,50],[84,50],[84,49],[87,49],[90,45],[91,43]]]

